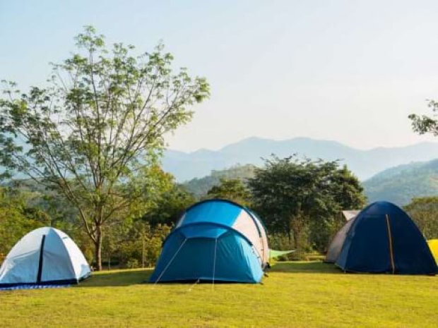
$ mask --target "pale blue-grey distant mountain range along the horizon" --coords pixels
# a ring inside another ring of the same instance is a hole
[[[269,140],[248,138],[227,145],[220,150],[197,150],[179,152],[167,150],[162,159],[165,171],[177,181],[208,176],[213,170],[221,170],[236,164],[261,166],[263,158],[276,154],[288,157],[299,154],[312,159],[341,159],[360,180],[393,166],[410,162],[425,162],[438,158],[438,142],[421,142],[406,147],[378,147],[372,150],[357,150],[336,141],[294,138],[290,140]]]

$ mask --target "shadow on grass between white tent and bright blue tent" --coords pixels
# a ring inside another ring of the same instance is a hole
[[[153,269],[134,269],[120,271],[95,272],[82,281],[79,287],[131,286],[148,281]]]

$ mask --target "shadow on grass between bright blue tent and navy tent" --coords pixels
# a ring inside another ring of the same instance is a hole
[[[309,274],[340,274],[342,271],[333,263],[324,262],[276,262],[270,272],[309,273]]]

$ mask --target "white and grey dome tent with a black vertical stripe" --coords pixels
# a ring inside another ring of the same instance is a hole
[[[0,287],[77,284],[90,275],[81,250],[66,233],[35,229],[16,243],[0,268]]]

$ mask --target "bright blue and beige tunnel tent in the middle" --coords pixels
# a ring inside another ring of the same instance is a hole
[[[266,230],[254,213],[227,200],[206,200],[182,214],[150,281],[256,283],[268,256]]]

